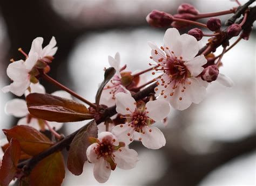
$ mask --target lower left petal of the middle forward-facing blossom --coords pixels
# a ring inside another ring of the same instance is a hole
[[[116,135],[118,141],[124,142],[125,145],[129,145],[134,139],[134,128],[128,124],[117,125],[111,132]]]

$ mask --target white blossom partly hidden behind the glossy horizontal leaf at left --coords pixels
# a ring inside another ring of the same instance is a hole
[[[31,84],[30,92],[27,90],[25,92],[25,95],[28,95],[29,93],[33,93],[33,92],[45,94],[45,89],[39,83]],[[62,90],[53,92],[51,95],[63,97],[66,99],[72,99],[70,94],[68,94],[67,92],[62,91]],[[26,106],[26,101],[24,99],[15,98],[15,99],[8,101],[5,104],[5,112],[8,115],[12,115],[12,116],[21,118],[18,120],[17,125],[29,125],[33,128],[36,128],[36,130],[38,130],[38,131],[48,129],[48,128],[45,128],[45,122],[47,122],[51,128],[54,127],[56,131],[59,130],[63,126],[63,123],[58,123],[55,121],[46,121],[43,119],[35,118],[32,115],[30,115],[28,108]]]

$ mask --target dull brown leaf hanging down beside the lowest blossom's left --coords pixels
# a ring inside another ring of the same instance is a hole
[[[84,126],[73,139],[69,149],[68,169],[72,174],[80,175],[83,173],[84,162],[87,160],[86,149],[91,145],[89,137],[98,136],[98,128],[95,120],[89,125]]]

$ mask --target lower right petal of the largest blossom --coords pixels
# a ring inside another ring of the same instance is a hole
[[[188,78],[191,84],[186,85],[186,95],[193,103],[200,103],[206,96],[206,88],[202,86],[196,77]]]

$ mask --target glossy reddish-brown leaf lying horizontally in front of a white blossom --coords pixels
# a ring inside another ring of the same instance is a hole
[[[93,119],[86,106],[70,99],[49,94],[29,94],[26,97],[29,112],[48,121],[70,122]]]

